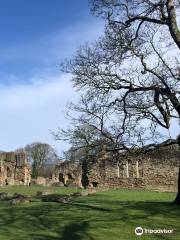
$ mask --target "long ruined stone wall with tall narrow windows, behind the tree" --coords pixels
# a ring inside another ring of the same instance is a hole
[[[74,184],[84,187],[143,188],[159,191],[177,191],[180,152],[168,147],[138,156],[120,156],[114,160],[108,154],[87,162],[87,185],[82,184],[83,169],[78,163],[64,162],[56,167],[56,181],[66,184],[72,176]],[[59,178],[59,174],[61,178]]]

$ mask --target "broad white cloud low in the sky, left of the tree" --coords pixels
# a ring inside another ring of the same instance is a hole
[[[10,151],[43,141],[60,151],[65,144],[55,142],[50,130],[66,125],[67,101],[77,99],[70,75],[34,77],[29,82],[0,88],[0,149]]]

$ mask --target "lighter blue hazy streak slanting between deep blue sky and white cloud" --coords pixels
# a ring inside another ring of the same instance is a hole
[[[97,39],[103,30],[101,21],[91,20],[86,23],[76,23],[64,29],[57,29],[46,35],[34,37],[23,44],[0,46],[0,64],[10,64],[8,71],[38,71],[39,68],[57,68],[63,58],[71,56],[76,48]]]

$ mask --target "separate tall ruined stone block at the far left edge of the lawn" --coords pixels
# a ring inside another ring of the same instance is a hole
[[[25,153],[0,154],[0,185],[29,185],[31,169]]]

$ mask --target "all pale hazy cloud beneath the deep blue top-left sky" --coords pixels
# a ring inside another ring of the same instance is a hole
[[[51,130],[66,126],[65,106],[78,96],[59,63],[76,48],[97,39],[97,19],[72,24],[21,45],[0,46],[0,150],[11,151],[33,141],[47,142],[59,152]]]

